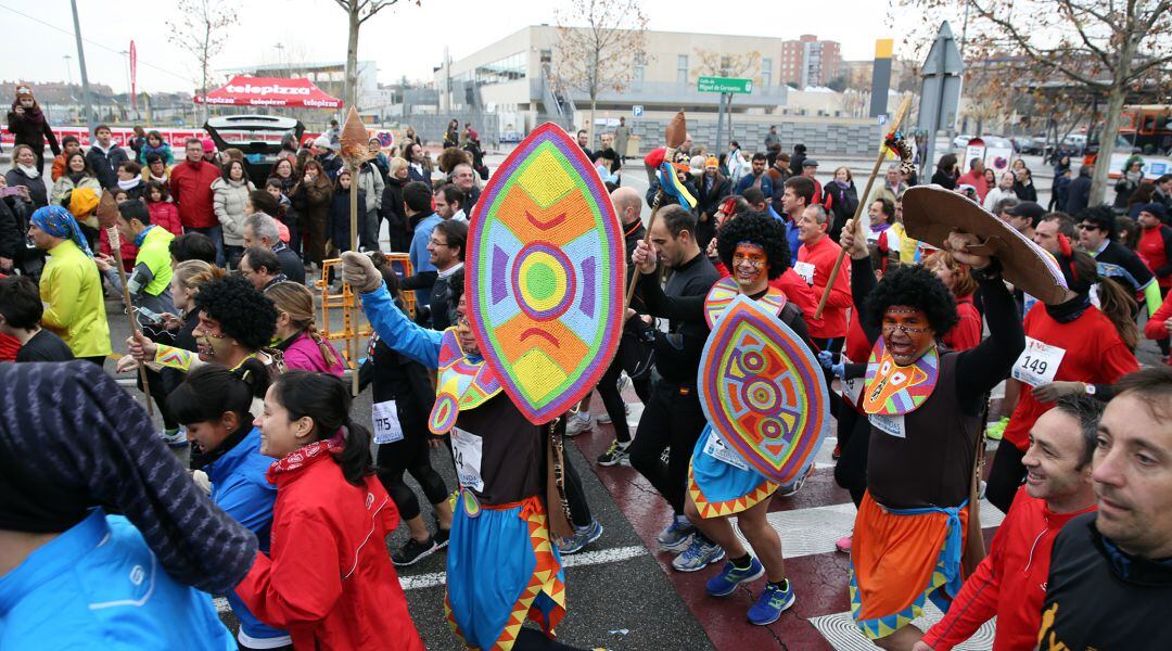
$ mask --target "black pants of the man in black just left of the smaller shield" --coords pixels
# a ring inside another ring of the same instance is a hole
[[[639,436],[627,451],[631,465],[663,495],[676,515],[683,514],[688,464],[704,423],[695,386],[659,379],[639,420]],[[660,455],[669,446],[672,451],[665,464]]]

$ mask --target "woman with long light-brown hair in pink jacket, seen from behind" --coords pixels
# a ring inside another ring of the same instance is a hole
[[[265,289],[265,297],[277,307],[277,349],[285,352],[286,369],[322,371],[342,376],[342,358],[318,334],[314,324],[313,293],[309,288],[282,281]]]

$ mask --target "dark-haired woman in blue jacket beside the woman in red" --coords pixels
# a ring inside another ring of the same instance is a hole
[[[272,544],[273,502],[277,486],[266,479],[272,459],[260,453],[260,430],[253,425],[268,389],[268,372],[259,359],[246,359],[234,370],[220,364],[200,366],[168,398],[175,418],[186,427],[191,441],[191,470],[203,471],[211,482],[211,499],[237,522],[257,534],[259,550]],[[237,644],[244,651],[292,651],[285,631],[265,624],[236,592],[227,594],[240,621]]]

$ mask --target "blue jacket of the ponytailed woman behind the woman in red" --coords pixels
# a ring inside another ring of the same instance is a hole
[[[277,486],[265,477],[272,464],[272,459],[260,454],[260,430],[253,427],[232,450],[204,468],[212,482],[212,502],[257,534],[260,550],[265,554],[268,553],[273,503],[277,501]],[[251,640],[279,637],[285,638],[285,644],[292,644],[287,632],[257,619],[234,590],[227,594],[227,603],[240,619],[240,642],[246,646],[258,646],[250,644]]]

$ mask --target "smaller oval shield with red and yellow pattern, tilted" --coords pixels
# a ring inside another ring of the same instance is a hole
[[[742,459],[789,484],[830,430],[830,398],[813,352],[768,309],[731,301],[704,345],[700,404]]]

